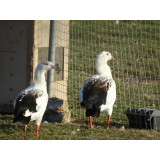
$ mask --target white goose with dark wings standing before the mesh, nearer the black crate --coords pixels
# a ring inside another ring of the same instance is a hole
[[[103,111],[108,114],[106,128],[109,128],[116,100],[116,84],[107,64],[108,60],[114,60],[114,57],[107,51],[102,51],[97,55],[95,60],[97,74],[86,80],[79,92],[81,106],[86,109],[86,116],[89,117],[90,128],[93,128],[92,117],[99,117],[100,112]]]

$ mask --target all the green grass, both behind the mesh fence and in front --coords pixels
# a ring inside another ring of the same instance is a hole
[[[70,21],[68,102],[72,122],[42,123],[38,139],[160,139],[160,132],[128,127],[127,108],[160,109],[160,30],[159,21]],[[117,86],[117,99],[111,128],[104,129],[107,116],[102,113],[89,128],[80,107],[79,89],[95,74],[94,60],[102,50],[116,58],[109,62]],[[12,124],[13,115],[0,115],[0,139],[24,139],[23,126]],[[125,130],[121,130],[121,126]],[[78,129],[78,130],[77,130]],[[35,138],[35,125],[27,130]]]

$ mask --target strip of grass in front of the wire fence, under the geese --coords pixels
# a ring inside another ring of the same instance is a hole
[[[39,138],[36,138],[34,122],[27,127],[27,139],[24,138],[23,125],[12,124],[13,115],[0,115],[1,140],[145,140],[160,139],[160,132],[154,130],[129,129],[121,130],[121,124],[111,123],[110,129],[105,129],[105,122],[94,122],[90,129],[88,121],[77,121],[69,124],[42,123]]]

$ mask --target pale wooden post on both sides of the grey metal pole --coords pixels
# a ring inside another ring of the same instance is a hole
[[[56,55],[52,97],[67,100],[69,21],[56,21]],[[48,60],[50,21],[35,21],[33,70],[38,63]],[[33,75],[34,76],[34,75]]]

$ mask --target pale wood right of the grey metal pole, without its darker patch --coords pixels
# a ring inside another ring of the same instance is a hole
[[[68,20],[59,20],[56,23],[56,47],[62,47],[63,56],[61,62],[63,62],[63,76],[61,80],[54,81],[53,85],[53,95],[57,98],[67,100],[67,81],[68,81],[68,55],[69,55],[69,21]],[[58,54],[58,53],[57,53]],[[62,54],[59,53],[59,54]],[[56,72],[55,72],[56,74]],[[56,77],[56,76],[55,76]]]

